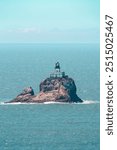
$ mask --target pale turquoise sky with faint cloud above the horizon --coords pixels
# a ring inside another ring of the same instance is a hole
[[[99,0],[0,0],[0,43],[99,43]]]

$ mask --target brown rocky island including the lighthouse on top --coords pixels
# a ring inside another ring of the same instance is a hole
[[[76,85],[72,78],[60,71],[60,64],[55,64],[54,73],[39,85],[39,93],[34,94],[32,87],[25,88],[13,100],[7,103],[44,103],[44,102],[83,102],[76,94]]]

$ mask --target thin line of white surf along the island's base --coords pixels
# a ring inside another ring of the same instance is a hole
[[[86,105],[86,104],[98,104],[100,103],[99,101],[94,101],[94,100],[83,100],[83,103],[65,103],[65,102],[44,102],[44,103],[21,103],[21,102],[16,102],[16,103],[5,103],[5,102],[0,102],[0,105],[49,105],[49,104],[65,104],[65,105]]]

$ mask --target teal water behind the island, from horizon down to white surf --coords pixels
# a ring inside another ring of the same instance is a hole
[[[12,99],[27,86],[37,93],[59,61],[75,80],[78,95],[99,101],[99,55],[96,44],[1,44],[0,100]]]

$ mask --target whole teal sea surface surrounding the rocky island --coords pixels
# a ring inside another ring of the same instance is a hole
[[[0,44],[0,150],[99,150],[99,44]],[[82,104],[5,104],[54,71],[72,77]]]

